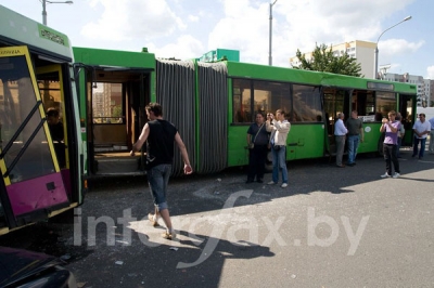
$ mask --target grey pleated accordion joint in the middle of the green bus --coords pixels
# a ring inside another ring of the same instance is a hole
[[[228,84],[225,63],[157,60],[156,101],[176,123],[200,174],[227,167]],[[175,149],[174,175],[183,173]]]

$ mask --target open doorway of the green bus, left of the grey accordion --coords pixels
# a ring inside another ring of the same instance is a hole
[[[144,173],[141,159],[129,152],[140,135],[144,106],[150,101],[149,71],[94,67],[88,73],[88,149],[90,168],[95,175]],[[144,114],[144,117],[143,117]]]

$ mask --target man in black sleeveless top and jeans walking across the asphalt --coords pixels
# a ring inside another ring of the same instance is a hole
[[[153,226],[158,226],[159,217],[167,227],[162,235],[166,239],[176,237],[171,225],[169,210],[166,201],[167,184],[171,172],[174,160],[174,143],[176,142],[184,162],[183,171],[191,174],[193,169],[190,166],[189,155],[178,130],[174,125],[163,119],[163,109],[158,103],[150,103],[146,107],[148,119],[139,140],[132,145],[131,156],[140,150],[146,142],[146,173],[148,182],[154,199],[155,212],[148,214]]]

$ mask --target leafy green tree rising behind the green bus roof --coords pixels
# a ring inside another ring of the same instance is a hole
[[[342,56],[335,56],[332,48],[327,49],[326,44],[318,47],[316,44],[315,51],[312,52],[311,60],[306,60],[305,54],[302,54],[297,49],[296,57],[301,62],[296,69],[312,70],[312,71],[327,71],[342,75],[349,75],[356,77],[365,77],[360,74],[360,63],[356,62],[348,53],[344,53]]]

